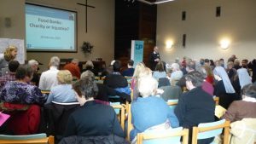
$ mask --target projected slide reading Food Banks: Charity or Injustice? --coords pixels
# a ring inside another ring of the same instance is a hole
[[[26,3],[26,50],[77,51],[76,14]]]

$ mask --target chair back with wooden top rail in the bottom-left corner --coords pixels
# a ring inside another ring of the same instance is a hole
[[[54,144],[55,138],[52,135],[49,137],[46,134],[35,135],[0,135],[0,143],[4,144]]]

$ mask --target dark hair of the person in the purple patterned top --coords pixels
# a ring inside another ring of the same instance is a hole
[[[31,66],[28,65],[20,65],[15,73],[16,79],[23,79],[26,77],[31,78],[33,74],[33,70]]]

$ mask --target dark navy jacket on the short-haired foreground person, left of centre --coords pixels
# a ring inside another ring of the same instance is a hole
[[[125,137],[113,107],[87,101],[67,121],[65,136],[119,135]]]

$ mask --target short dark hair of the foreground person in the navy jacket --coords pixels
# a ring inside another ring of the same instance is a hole
[[[85,99],[88,100],[91,97],[96,97],[98,93],[98,87],[94,82],[94,79],[90,76],[85,76],[79,81],[73,84],[73,89],[78,93],[79,97],[84,95]]]

